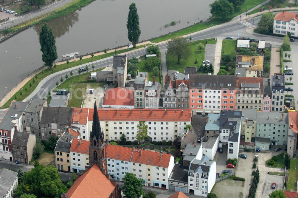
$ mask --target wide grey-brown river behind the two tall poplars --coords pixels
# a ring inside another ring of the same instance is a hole
[[[56,37],[58,59],[128,44],[127,15],[136,3],[141,35],[139,41],[179,30],[209,18],[215,0],[97,0],[74,13],[49,22]],[[175,21],[174,24],[171,24]],[[42,24],[31,27],[0,44],[0,98],[43,65],[38,34]],[[5,88],[6,87],[6,88]]]

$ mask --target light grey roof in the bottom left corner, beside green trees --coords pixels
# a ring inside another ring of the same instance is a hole
[[[0,196],[5,197],[18,173],[6,168],[0,169]]]

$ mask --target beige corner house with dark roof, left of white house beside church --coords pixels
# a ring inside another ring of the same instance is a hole
[[[60,137],[55,146],[55,166],[59,171],[72,172],[70,147],[72,141],[79,137],[79,132],[72,129],[60,133]]]

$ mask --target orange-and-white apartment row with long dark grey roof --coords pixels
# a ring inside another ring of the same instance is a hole
[[[190,108],[196,115],[235,110],[235,87],[232,75],[190,75]]]

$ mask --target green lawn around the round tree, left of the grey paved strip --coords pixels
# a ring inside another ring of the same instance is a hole
[[[187,60],[181,59],[180,63],[177,63],[177,58],[173,58],[170,55],[166,55],[166,62],[167,62],[167,70],[177,70],[181,73],[184,73],[184,67],[189,66],[196,66],[199,67],[202,64],[202,61],[204,61],[205,57],[205,50],[203,49],[201,52],[198,50],[198,43],[202,42],[205,44],[204,40],[201,41],[194,41],[191,42],[190,45],[190,56],[187,58]],[[207,44],[215,44],[215,40],[207,41]],[[195,59],[197,59],[197,62],[195,64]]]

